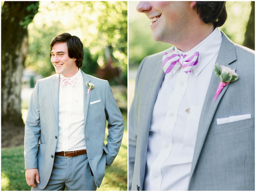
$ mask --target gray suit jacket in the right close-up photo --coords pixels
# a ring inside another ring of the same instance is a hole
[[[224,33],[222,37],[216,63],[236,68],[239,78],[212,101],[220,82],[212,73],[198,126],[189,190],[254,190],[254,51],[234,44]],[[137,72],[129,113],[131,190],[143,190],[150,121],[167,51],[146,57]],[[217,125],[217,118],[241,114],[252,118]]]

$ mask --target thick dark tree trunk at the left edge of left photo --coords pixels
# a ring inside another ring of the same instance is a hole
[[[20,111],[21,77],[28,52],[28,24],[39,2],[4,2],[2,6],[1,118],[2,124],[22,125]]]

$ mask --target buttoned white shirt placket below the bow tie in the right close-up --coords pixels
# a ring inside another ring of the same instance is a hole
[[[158,157],[150,168],[150,188],[151,190],[161,190],[161,167],[171,154],[173,148],[173,129],[178,116],[180,102],[187,89],[187,81],[190,73],[180,70],[177,74],[175,88],[167,103],[167,114],[161,126],[161,149]]]

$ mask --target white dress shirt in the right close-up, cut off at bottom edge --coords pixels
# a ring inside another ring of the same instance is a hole
[[[216,28],[189,52],[174,48],[182,55],[199,52],[199,61],[191,73],[173,68],[165,74],[150,124],[143,190],[188,190],[200,114],[221,41]]]

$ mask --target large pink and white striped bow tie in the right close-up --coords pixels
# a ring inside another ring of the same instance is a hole
[[[198,52],[189,55],[180,55],[173,50],[171,53],[165,53],[163,55],[163,71],[164,73],[169,73],[174,66],[177,66],[178,68],[182,66],[182,70],[185,73],[189,73],[193,70],[195,65],[197,65],[198,60]]]

